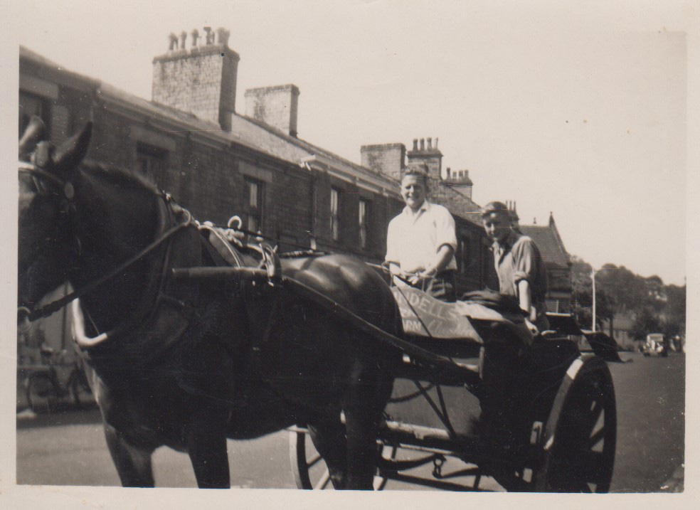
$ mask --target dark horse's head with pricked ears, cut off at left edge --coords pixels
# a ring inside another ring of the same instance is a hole
[[[65,281],[75,246],[69,234],[78,164],[92,124],[54,148],[39,142],[44,126],[33,117],[19,142],[18,304],[32,308]]]

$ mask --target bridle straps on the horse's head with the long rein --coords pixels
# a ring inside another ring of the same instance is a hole
[[[73,188],[73,184],[70,181],[63,181],[63,179],[60,179],[58,176],[55,176],[51,172],[46,171],[45,169],[41,169],[40,167],[28,161],[20,161],[18,165],[18,171],[27,172],[33,177],[33,179],[35,179],[35,181],[41,182],[43,180],[47,181],[48,184],[58,186],[58,188],[62,189],[63,191],[63,200],[67,201],[69,205],[72,205],[72,201],[75,196],[75,189]],[[40,194],[48,194],[48,190],[44,188],[44,186],[37,186],[37,189],[38,193]],[[166,205],[171,201],[171,197],[168,193],[161,192],[160,196],[161,199],[165,201]],[[66,209],[68,210],[69,208]],[[142,257],[145,257],[146,255],[151,253],[153,250],[155,250],[161,244],[163,244],[166,240],[169,240],[175,233],[179,232],[179,230],[182,230],[183,228],[186,228],[189,225],[191,225],[193,223],[191,213],[189,213],[189,211],[186,211],[185,209],[183,209],[183,211],[185,213],[184,221],[181,221],[173,227],[169,228],[169,230],[166,230],[156,240],[154,240],[152,243],[150,243],[141,251],[139,251],[139,253],[133,255],[132,257],[129,257],[129,259],[127,260],[124,260],[124,262],[122,262],[120,265],[117,265],[117,267],[112,269],[110,272],[107,272],[107,274],[102,275],[101,277],[97,277],[95,280],[88,282],[88,284],[84,285],[83,287],[75,289],[73,292],[70,292],[70,294],[66,294],[60,299],[56,299],[55,301],[50,302],[44,305],[43,307],[35,309],[29,309],[28,307],[19,307],[17,310],[18,324],[27,324],[36,321],[37,319],[41,319],[42,317],[47,317],[48,315],[51,315],[57,312],[59,309],[65,307],[66,304],[74,301],[75,299],[78,299],[81,296],[84,296],[85,294],[92,292],[97,287],[100,287],[100,285],[119,275],[121,272],[127,269],[127,267],[133,265],[135,262],[142,259]]]

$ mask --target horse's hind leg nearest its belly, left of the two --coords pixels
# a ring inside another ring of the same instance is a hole
[[[344,489],[347,467],[347,441],[340,413],[335,418],[324,418],[309,423],[309,435],[317,452],[323,457],[335,489]]]

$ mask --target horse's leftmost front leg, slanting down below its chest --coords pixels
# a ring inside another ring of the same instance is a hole
[[[153,449],[129,445],[121,432],[105,423],[105,438],[123,487],[154,487]]]

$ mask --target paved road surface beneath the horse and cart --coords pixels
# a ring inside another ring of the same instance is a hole
[[[629,361],[610,363],[618,414],[611,491],[678,491],[684,464],[685,356],[622,357]],[[97,410],[54,416],[24,411],[17,423],[19,484],[119,485]],[[287,432],[278,432],[258,440],[229,441],[233,486],[294,488],[287,437]],[[154,455],[154,475],[159,487],[196,487],[189,458],[166,448]],[[387,487],[415,488],[399,482]],[[488,484],[485,488],[498,489]]]

